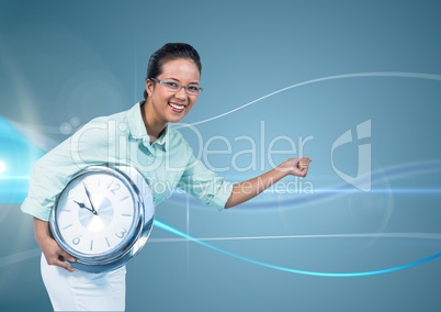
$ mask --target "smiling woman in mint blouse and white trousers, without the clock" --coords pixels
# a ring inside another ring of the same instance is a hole
[[[125,267],[103,274],[74,271],[64,259],[75,258],[49,233],[54,200],[79,170],[90,165],[131,165],[152,190],[155,183],[169,186],[154,191],[155,205],[179,183],[218,210],[253,198],[285,176],[306,176],[312,160],[291,158],[259,177],[233,185],[195,159],[185,140],[168,123],[181,121],[193,108],[202,90],[201,69],[192,46],[166,44],[149,59],[145,101],[128,111],[92,120],[35,164],[22,210],[34,216],[35,238],[43,252],[42,276],[54,310],[125,308]]]

